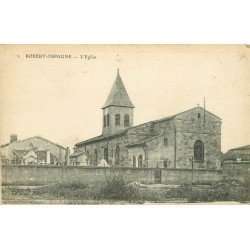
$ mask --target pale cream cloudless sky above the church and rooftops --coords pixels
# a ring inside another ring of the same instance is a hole
[[[222,151],[250,144],[245,45],[2,45],[0,54],[1,144],[10,134],[40,135],[72,149],[100,135],[117,68],[134,125],[202,106],[205,97],[222,119]]]

